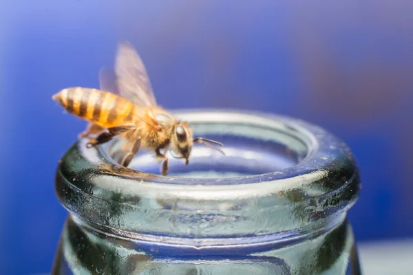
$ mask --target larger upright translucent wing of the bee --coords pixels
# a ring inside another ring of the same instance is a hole
[[[137,105],[156,106],[145,65],[134,47],[126,41],[118,46],[115,73],[120,96]]]

